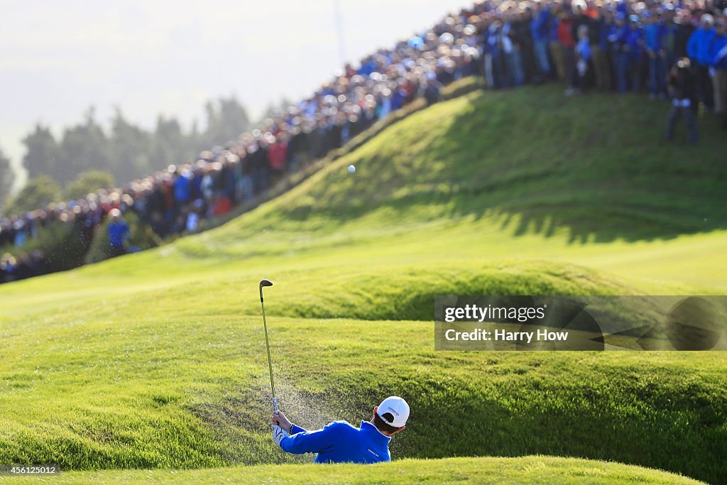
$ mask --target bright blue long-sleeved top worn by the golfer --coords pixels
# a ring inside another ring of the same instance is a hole
[[[291,435],[283,438],[280,447],[293,454],[318,453],[316,463],[377,463],[391,460],[390,436],[368,421],[361,428],[345,421],[334,421],[322,430],[306,431],[293,425]]]

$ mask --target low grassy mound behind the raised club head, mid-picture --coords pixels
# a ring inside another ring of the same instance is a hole
[[[433,301],[438,294],[658,294],[687,289],[688,286],[646,284],[617,278],[576,265],[538,260],[499,262],[452,262],[442,268],[409,264],[396,266],[350,266],[276,273],[284,300],[273,297],[268,313],[300,318],[357,318],[360,320],[432,321]],[[259,274],[259,273],[257,273]],[[179,311],[183,295],[191,287],[214,285],[214,291],[196,292],[187,316],[256,315],[259,299],[241,297],[257,291],[256,273],[246,270],[215,272],[199,276],[196,282],[173,282],[164,289],[119,298],[115,306],[154,308],[159,314]],[[693,289],[694,290],[694,289]],[[172,296],[172,297],[170,297]]]

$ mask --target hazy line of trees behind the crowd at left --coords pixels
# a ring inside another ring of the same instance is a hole
[[[20,193],[9,198],[13,173],[0,151],[0,207],[6,201],[2,212],[37,209],[40,206],[28,204],[49,197],[74,199],[95,183],[101,185],[92,190],[113,186],[114,180],[126,183],[145,177],[169,164],[194,161],[201,151],[233,143],[251,127],[246,108],[234,95],[209,101],[204,111],[205,129],[199,129],[196,121],[184,129],[176,118],[163,115],[157,116],[153,129],[145,129],[126,119],[118,107],[108,129],[97,120],[93,107],[81,123],[65,127],[60,137],[47,125],[36,124],[23,138],[22,163],[29,177],[24,200]],[[39,197],[28,198],[31,193]]]

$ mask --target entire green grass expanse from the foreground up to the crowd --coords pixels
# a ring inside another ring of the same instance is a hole
[[[396,393],[413,410],[393,440],[397,459],[552,454],[718,483],[725,353],[433,350],[435,294],[727,291],[723,143],[708,123],[698,148],[648,141],[666,109],[630,96],[565,99],[555,87],[474,92],[399,121],[214,231],[1,286],[0,463],[309,460],[276,450],[265,424],[257,281],[268,277],[281,408],[302,425],[366,419]],[[413,480],[386,471],[395,469],[440,482],[458,463],[406,460],[360,476],[332,467],[321,480]],[[544,457],[467,463],[483,472],[463,465],[462,480],[680,480]],[[587,470],[595,476],[579,475]],[[214,473],[321,474],[258,465],[152,475]]]

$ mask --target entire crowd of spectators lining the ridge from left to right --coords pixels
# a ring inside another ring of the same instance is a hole
[[[483,76],[490,89],[561,80],[566,95],[598,89],[648,92],[656,100],[675,97],[675,76],[667,73],[688,57],[670,121],[699,103],[724,113],[726,8],[727,0],[483,1],[392,49],[379,49],[358,66],[345,65],[312,96],[236,143],[201,153],[196,162],[170,165],[114,191],[0,217],[0,248],[22,252],[39,228],[57,221],[73,221],[79,239],[89,242],[114,209],[134,212],[161,238],[196,231],[205,218],[251,201],[286,172],[325,156],[414,99],[434,103],[441,87],[465,76]],[[696,127],[690,134],[696,140]],[[124,244],[111,247],[111,255],[123,254]],[[0,258],[0,283],[47,268],[41,252],[17,259],[7,253]]]

